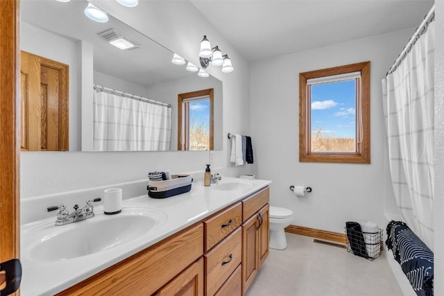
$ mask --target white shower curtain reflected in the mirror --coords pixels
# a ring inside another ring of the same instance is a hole
[[[94,150],[170,150],[171,108],[94,91]]]

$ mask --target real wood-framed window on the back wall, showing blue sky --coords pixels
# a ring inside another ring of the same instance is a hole
[[[299,161],[370,164],[370,62],[299,74]]]

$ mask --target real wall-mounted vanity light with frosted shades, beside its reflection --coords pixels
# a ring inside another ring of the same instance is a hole
[[[211,62],[213,66],[222,66],[223,73],[234,70],[228,55],[222,55],[219,46],[211,47],[206,35],[203,35],[203,40],[200,42],[199,60],[203,69],[207,69]]]

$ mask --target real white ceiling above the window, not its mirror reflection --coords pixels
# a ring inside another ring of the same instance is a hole
[[[250,61],[414,29],[434,3],[426,0],[190,1]],[[211,42],[210,36],[209,39]]]

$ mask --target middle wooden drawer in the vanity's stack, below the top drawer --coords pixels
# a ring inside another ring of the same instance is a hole
[[[216,245],[205,258],[206,295],[214,295],[242,260],[241,227]]]

